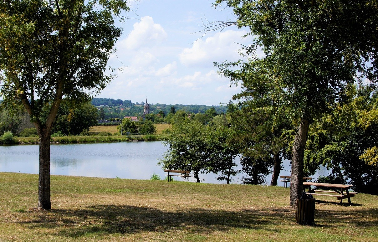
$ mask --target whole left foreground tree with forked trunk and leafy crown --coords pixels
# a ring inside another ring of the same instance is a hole
[[[104,72],[122,10],[123,0],[0,2],[0,95],[2,105],[22,103],[37,129],[40,209],[51,209],[50,137],[62,97],[90,101],[112,80]]]

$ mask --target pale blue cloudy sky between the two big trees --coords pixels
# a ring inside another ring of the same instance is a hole
[[[132,2],[122,36],[108,65],[116,78],[97,98],[150,104],[226,104],[240,87],[220,76],[213,62],[239,60],[247,29],[205,32],[203,25],[235,20],[231,9],[213,0]]]

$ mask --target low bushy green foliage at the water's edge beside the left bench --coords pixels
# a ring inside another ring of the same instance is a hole
[[[199,174],[213,172],[219,180],[227,180],[238,171],[234,158],[238,155],[237,145],[228,142],[231,130],[227,127],[204,126],[197,120],[190,120],[177,111],[172,130],[165,135],[164,145],[169,150],[159,161],[166,169],[194,171],[194,178],[200,182]]]

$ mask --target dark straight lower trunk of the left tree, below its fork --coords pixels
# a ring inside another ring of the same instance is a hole
[[[40,135],[39,139],[38,208],[50,210],[50,135]]]

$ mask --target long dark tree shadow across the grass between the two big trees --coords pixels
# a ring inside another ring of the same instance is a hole
[[[235,228],[279,232],[273,225],[293,222],[291,209],[241,212],[215,209],[162,211],[136,206],[97,205],[84,209],[43,211],[40,220],[26,222],[31,229],[50,228],[62,236],[90,234],[133,234],[139,231],[212,233]]]

